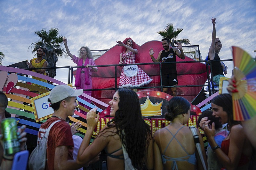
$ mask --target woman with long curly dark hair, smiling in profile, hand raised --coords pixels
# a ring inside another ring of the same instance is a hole
[[[108,154],[108,169],[153,169],[153,139],[148,124],[140,112],[138,95],[130,89],[119,89],[109,101],[114,117],[100,131],[93,143],[90,138],[98,118],[96,108],[87,114],[87,132],[78,151],[77,163],[84,165],[104,148]]]

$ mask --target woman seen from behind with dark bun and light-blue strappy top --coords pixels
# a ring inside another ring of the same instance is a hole
[[[184,126],[190,117],[190,103],[183,97],[173,97],[166,108],[165,119],[171,123],[154,134],[154,169],[203,169],[193,134]],[[196,131],[206,162],[204,142]]]

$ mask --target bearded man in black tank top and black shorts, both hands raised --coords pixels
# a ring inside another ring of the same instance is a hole
[[[182,50],[182,46],[180,43],[177,43],[177,48],[171,48],[171,42],[168,38],[164,38],[162,40],[162,45],[164,50],[160,51],[158,57],[155,59],[153,56],[155,51],[153,48],[150,48],[149,55],[154,63],[156,62],[163,62],[162,64],[162,83],[163,86],[171,86],[171,85],[178,85],[177,79],[177,70],[176,70],[176,63],[166,63],[164,62],[176,62],[176,55],[180,57],[182,60],[185,59],[185,54]],[[163,87],[163,92],[167,93],[168,88]],[[176,87],[171,88],[172,96],[177,96],[176,94]]]

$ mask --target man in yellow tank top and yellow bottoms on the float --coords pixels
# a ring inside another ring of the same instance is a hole
[[[47,65],[48,65],[48,63],[47,63],[46,60],[44,60],[44,59],[42,58],[44,55],[45,55],[45,49],[44,49],[44,48],[41,48],[41,47],[37,48],[37,50],[36,50],[36,56],[37,56],[37,58],[31,59],[31,60],[30,60],[30,63],[27,62],[28,67],[29,67],[29,68],[42,68],[42,67],[45,67],[45,68],[46,68]],[[46,69],[32,70],[32,71],[46,75],[45,70],[46,70]],[[45,79],[37,78],[37,77],[35,77],[35,76],[32,76],[32,78],[47,83],[47,80],[45,80]],[[43,89],[46,89],[46,87],[41,86],[41,85],[37,85],[37,84],[34,84],[34,83],[32,83],[32,85],[35,85],[35,86],[37,86],[37,87],[41,87],[41,88],[43,88]],[[29,91],[33,91],[33,90],[29,90]]]

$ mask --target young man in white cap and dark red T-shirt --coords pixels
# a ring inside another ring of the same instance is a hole
[[[76,97],[83,93],[83,89],[75,90],[68,85],[59,85],[52,89],[48,101],[54,113],[50,119],[40,126],[37,142],[42,140],[46,129],[55,121],[47,141],[46,169],[78,169],[81,166],[73,160],[73,139],[66,118],[74,114],[77,106]]]

